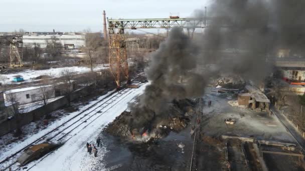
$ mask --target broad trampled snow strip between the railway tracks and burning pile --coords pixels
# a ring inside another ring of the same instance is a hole
[[[30,170],[91,170],[93,166],[98,166],[99,170],[105,170],[101,163],[107,149],[105,147],[98,148],[98,157],[89,155],[86,149],[86,142],[95,143],[97,136],[101,130],[116,116],[120,115],[137,95],[143,93],[145,85],[137,89],[131,89],[131,92],[117,99],[109,109],[101,110],[103,115],[97,119],[92,118],[92,123],[83,129],[76,130],[73,136],[56,151],[36,162],[27,165]],[[90,122],[90,121],[87,121]],[[103,144],[103,137],[101,137]]]

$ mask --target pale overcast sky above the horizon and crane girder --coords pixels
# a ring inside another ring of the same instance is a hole
[[[170,12],[190,16],[210,0],[0,0],[0,32],[102,30],[109,18],[164,18]]]

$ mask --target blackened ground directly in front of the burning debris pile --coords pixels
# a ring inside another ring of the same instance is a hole
[[[190,126],[179,133],[147,143],[126,143],[104,134],[109,150],[105,167],[111,170],[186,170],[190,166],[192,138]],[[179,147],[178,145],[184,145]]]

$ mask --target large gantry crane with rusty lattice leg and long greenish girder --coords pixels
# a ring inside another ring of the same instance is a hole
[[[196,28],[208,26],[211,17],[200,18],[180,18],[179,16],[170,18],[151,19],[108,19],[108,39],[109,39],[109,63],[117,87],[120,87],[120,80],[125,78],[130,83],[128,75],[128,62],[126,54],[126,41],[124,29],[139,28],[165,28],[173,27],[186,28],[189,36],[193,36]]]

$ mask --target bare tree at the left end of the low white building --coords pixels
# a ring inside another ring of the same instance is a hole
[[[6,98],[8,102],[11,104],[9,107],[11,112],[14,114],[15,120],[16,120],[16,132],[15,135],[19,136],[22,133],[21,130],[21,120],[20,120],[20,104],[16,97],[16,94],[14,93],[8,93],[6,94]]]

